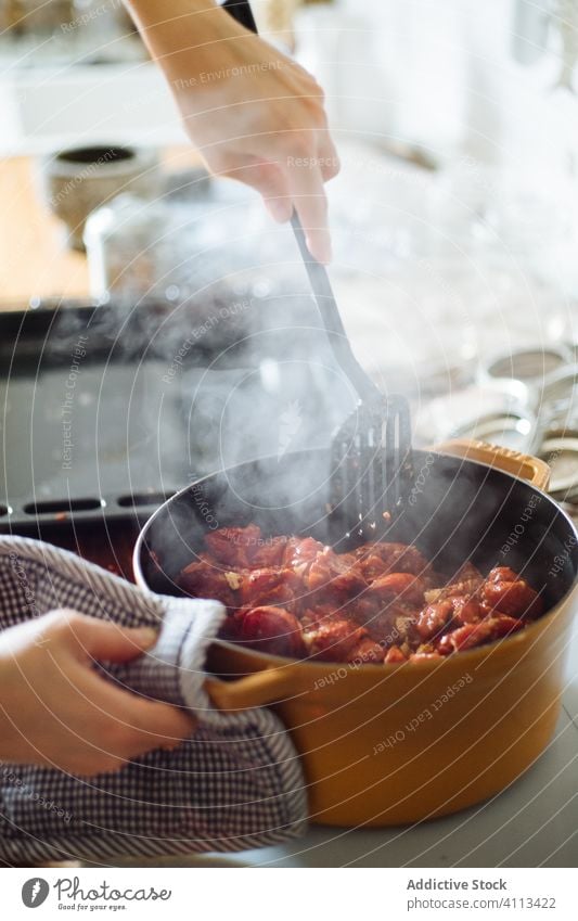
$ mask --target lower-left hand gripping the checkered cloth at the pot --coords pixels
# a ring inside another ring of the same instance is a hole
[[[191,734],[189,716],[120,690],[97,661],[129,662],[155,631],[121,629],[74,611],[0,632],[0,760],[77,775],[114,771]]]

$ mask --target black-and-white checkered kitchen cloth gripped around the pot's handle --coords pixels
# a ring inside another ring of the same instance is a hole
[[[190,707],[200,722],[172,752],[95,778],[0,762],[4,862],[233,852],[305,831],[305,782],[283,725],[261,708],[219,713],[203,690],[219,602],[156,596],[48,543],[0,537],[0,629],[54,607],[160,628],[137,661],[99,667],[139,694]]]

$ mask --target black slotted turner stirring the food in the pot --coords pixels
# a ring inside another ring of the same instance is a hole
[[[257,31],[248,0],[222,5]],[[400,513],[413,484],[409,406],[402,396],[385,397],[359,364],[325,267],[309,253],[296,212],[291,223],[333,354],[360,399],[332,439],[330,512],[349,533],[370,539]]]

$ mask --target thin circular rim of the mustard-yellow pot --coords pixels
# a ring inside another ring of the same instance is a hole
[[[327,450],[326,448],[310,448],[310,449],[305,450],[305,451],[298,451],[297,453],[311,453],[311,451],[317,451],[319,453],[322,453],[322,452],[326,452],[326,450]],[[419,448],[416,450],[421,450],[421,451],[425,452],[424,449],[421,449],[421,448]],[[538,489],[537,486],[534,486],[531,483],[528,483],[527,481],[522,479],[518,476],[514,476],[513,474],[508,473],[504,470],[500,470],[498,468],[492,468],[491,465],[483,463],[481,461],[471,460],[470,458],[457,458],[454,455],[446,453],[444,450],[441,450],[441,451],[438,451],[438,450],[435,450],[435,449],[426,449],[426,450],[427,450],[428,453],[438,455],[439,457],[449,457],[449,458],[452,458],[453,460],[459,460],[460,464],[466,463],[466,464],[475,464],[476,466],[489,468],[489,469],[493,470],[500,476],[505,476],[508,479],[513,479],[513,481],[524,483],[526,486],[528,486],[535,493],[538,493],[539,496],[547,499],[551,504],[555,506],[556,511],[566,520],[566,523],[568,524],[569,529],[574,534],[574,537],[575,537],[576,542],[578,545],[578,527],[575,525],[575,523],[573,522],[570,516],[567,514],[567,512],[564,511],[564,509],[561,509],[560,506],[552,499],[552,497],[548,495],[548,493],[544,493],[543,490]],[[165,502],[163,502],[163,504],[159,506],[158,509],[156,509],[153,512],[153,514],[146,520],[146,522],[144,523],[144,525],[140,529],[139,536],[137,538],[137,541],[134,543],[134,548],[133,548],[133,551],[132,551],[132,572],[133,572],[134,579],[136,579],[136,583],[139,586],[139,588],[144,589],[145,591],[151,592],[152,594],[157,594],[157,592],[154,592],[153,589],[146,584],[146,579],[144,578],[144,575],[142,573],[141,565],[140,565],[140,555],[141,555],[141,551],[142,551],[143,545],[144,545],[144,536],[145,536],[146,532],[149,530],[151,524],[153,523],[153,521],[157,516],[160,516],[165,512],[165,510],[168,508],[168,506],[171,502],[175,502],[181,496],[187,495],[187,493],[189,493],[190,489],[193,486],[196,486],[201,483],[205,483],[207,479],[211,479],[214,476],[216,476],[219,473],[237,470],[237,469],[244,466],[246,463],[256,463],[256,462],[258,463],[259,461],[268,461],[268,460],[274,460],[274,456],[273,455],[265,455],[264,457],[255,458],[252,461],[243,461],[242,463],[234,464],[233,466],[227,468],[226,471],[221,470],[221,471],[215,471],[213,473],[208,473],[205,476],[201,476],[198,479],[192,481],[192,483],[190,483],[188,486],[184,486],[182,489],[179,489],[178,493],[175,493],[174,496],[171,496],[169,499],[167,499]],[[435,670],[437,668],[442,667],[444,663],[446,663],[446,662],[453,662],[453,663],[463,662],[465,664],[467,662],[474,662],[476,660],[484,658],[485,653],[487,653],[487,651],[492,651],[492,650],[496,650],[496,649],[503,649],[505,647],[508,649],[513,650],[515,648],[515,644],[517,644],[517,645],[525,644],[525,643],[528,642],[528,637],[531,639],[534,634],[543,631],[548,628],[550,621],[554,619],[554,617],[561,612],[562,609],[566,607],[566,605],[568,604],[573,594],[577,593],[577,590],[578,590],[578,570],[575,574],[574,581],[573,581],[571,586],[568,588],[566,593],[556,602],[556,604],[554,604],[553,607],[551,607],[549,611],[547,611],[545,614],[542,614],[540,617],[538,617],[537,621],[532,621],[530,624],[528,624],[528,626],[525,627],[523,630],[517,630],[516,632],[512,634],[511,636],[502,637],[498,640],[493,640],[490,643],[484,643],[483,645],[474,647],[474,649],[464,650],[463,652],[451,654],[451,655],[448,655],[448,656],[439,656],[437,658],[414,660],[414,661],[411,662],[411,670],[412,671],[415,670],[415,669],[420,669],[421,671]],[[371,674],[376,675],[377,673],[383,674],[384,669],[387,669],[388,671],[395,671],[395,670],[398,670],[399,668],[409,664],[409,662],[388,662],[388,663],[370,663],[370,662],[368,662],[368,663],[363,663],[362,665],[356,665],[355,663],[351,663],[351,662],[329,662],[329,661],[325,662],[325,661],[320,661],[320,660],[292,658],[292,657],[286,656],[286,655],[275,655],[273,653],[259,652],[258,650],[253,649],[249,645],[244,647],[241,643],[234,643],[234,642],[231,642],[229,640],[222,640],[219,637],[216,637],[213,640],[211,645],[222,647],[223,649],[226,649],[230,652],[234,652],[236,654],[239,654],[240,652],[248,654],[252,657],[255,657],[259,664],[262,664],[264,669],[268,668],[268,667],[272,667],[272,666],[281,668],[281,667],[288,667],[288,666],[295,667],[295,666],[298,665],[298,666],[301,666],[304,668],[309,668],[309,669],[316,669],[317,668],[317,669],[326,670],[327,667],[333,668],[333,669],[335,669],[337,667],[337,668],[347,668],[351,673],[362,671],[363,674],[367,674],[367,675],[371,675]]]

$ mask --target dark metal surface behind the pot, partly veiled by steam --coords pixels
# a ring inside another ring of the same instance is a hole
[[[310,304],[0,314],[0,527],[150,513],[221,466],[325,444],[347,407]]]

